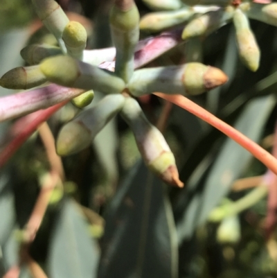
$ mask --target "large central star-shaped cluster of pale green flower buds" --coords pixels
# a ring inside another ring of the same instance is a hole
[[[111,7],[110,27],[115,48],[91,51],[85,50],[87,33],[84,27],[78,22],[69,21],[56,1],[32,1],[37,15],[48,31],[55,35],[59,47],[47,44],[26,46],[21,51],[21,56],[30,66],[8,71],[0,79],[0,85],[10,89],[27,89],[42,85],[44,82],[53,82],[71,88],[72,92],[66,88],[69,91],[66,91],[64,97],[55,92],[57,98],[46,90],[47,96],[37,96],[40,102],[32,104],[32,111],[35,107],[42,107],[43,102],[49,99],[53,104],[53,101],[77,96],[73,98],[73,103],[78,107],[84,107],[92,101],[93,90],[107,94],[97,105],[84,110],[64,125],[57,137],[57,153],[71,155],[86,148],[106,123],[120,113],[134,132],[145,164],[168,184],[183,186],[179,180],[175,157],[166,140],[161,132],[145,118],[134,97],[153,92],[184,96],[202,94],[224,84],[227,80],[226,75],[220,69],[199,62],[135,71],[134,53],[141,44],[139,44],[139,10],[134,0],[115,0]],[[164,3],[169,10],[184,6],[184,3],[179,0],[146,2],[157,9],[160,9],[161,3]],[[201,11],[211,12],[205,15],[208,18],[213,18],[212,15],[215,15],[213,27],[207,27],[206,31],[215,29],[215,25],[219,24],[222,18],[226,21],[231,17],[226,16],[222,8],[190,7],[173,11],[171,13],[173,21],[170,21],[170,16],[166,14],[160,15],[161,21],[164,21],[161,26],[168,27],[172,22],[178,24],[180,19],[187,20],[195,12]],[[220,12],[220,15],[217,15],[217,12]],[[247,24],[242,27],[245,26]],[[195,32],[193,34],[199,34]],[[113,61],[115,57],[114,71],[99,67],[102,62]],[[55,91],[57,91],[62,88],[57,85],[48,85],[48,87],[56,86]],[[43,88],[37,89],[37,92],[45,93]],[[22,98],[28,95],[35,100],[33,92],[25,93],[20,93]],[[21,114],[28,111],[30,108],[28,110],[24,106]]]

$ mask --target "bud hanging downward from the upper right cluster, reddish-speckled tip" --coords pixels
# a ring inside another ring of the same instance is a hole
[[[260,49],[249,26],[249,19],[240,8],[235,10],[233,23],[240,58],[251,71],[256,71],[260,63]]]

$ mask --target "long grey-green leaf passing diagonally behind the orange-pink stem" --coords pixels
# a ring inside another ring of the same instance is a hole
[[[253,141],[258,141],[265,121],[267,121],[275,103],[273,96],[254,99],[245,107],[244,112],[235,123],[235,128]],[[230,186],[240,177],[250,159],[251,154],[247,150],[244,150],[233,140],[227,139],[210,173],[208,173],[206,182],[201,184],[199,181],[211,164],[211,157],[204,159],[202,164],[195,170],[197,175],[193,175],[194,177],[197,176],[197,186],[195,180],[190,178],[187,182],[188,192],[186,193],[186,198],[179,199],[179,202],[184,202],[185,199],[189,202],[186,204],[187,207],[182,218],[177,223],[179,243],[184,241],[185,238],[190,238],[195,227],[204,223],[211,209],[226,196]],[[199,187],[202,189],[199,190]]]

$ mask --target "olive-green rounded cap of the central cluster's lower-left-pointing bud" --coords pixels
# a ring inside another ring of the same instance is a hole
[[[66,123],[57,137],[56,151],[60,156],[73,155],[87,148],[91,143],[91,134],[78,121]]]

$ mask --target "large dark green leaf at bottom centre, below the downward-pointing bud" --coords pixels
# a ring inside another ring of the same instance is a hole
[[[161,180],[136,164],[107,211],[98,278],[177,277],[172,210]]]

